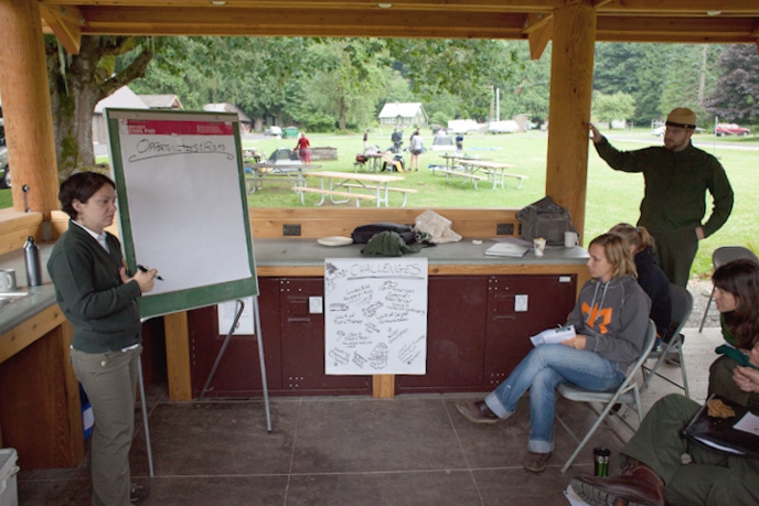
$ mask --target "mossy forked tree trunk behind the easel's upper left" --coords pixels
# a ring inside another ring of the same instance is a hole
[[[77,55],[64,54],[54,36],[45,36],[55,157],[58,176],[95,165],[93,112],[98,101],[145,75],[152,45],[135,36],[83,36]],[[116,57],[141,46],[131,62],[114,74]]]

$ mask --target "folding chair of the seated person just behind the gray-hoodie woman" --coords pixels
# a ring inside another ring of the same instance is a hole
[[[663,349],[660,347],[660,349],[654,349],[649,354],[646,360],[655,358],[656,363],[654,366],[649,369],[645,367],[645,363],[643,363],[641,370],[643,372],[644,381],[640,389],[641,391],[645,390],[649,386],[649,381],[651,381],[651,378],[655,375],[682,388],[685,390],[685,397],[691,398],[691,392],[687,387],[687,374],[685,373],[685,358],[683,357],[683,335],[681,332],[687,319],[691,316],[691,311],[693,311],[693,295],[682,287],[670,284],[670,299],[672,299],[672,325],[670,329],[674,329],[674,331],[670,331],[670,342],[666,343]],[[670,378],[656,373],[662,362],[671,357],[673,353],[677,353],[680,356],[680,370],[683,375],[683,385],[678,385]]]

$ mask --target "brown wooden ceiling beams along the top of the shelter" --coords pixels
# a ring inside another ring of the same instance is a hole
[[[39,0],[70,52],[82,34],[530,39],[578,0]],[[598,41],[757,43],[759,0],[596,0]],[[545,35],[544,35],[545,36]]]

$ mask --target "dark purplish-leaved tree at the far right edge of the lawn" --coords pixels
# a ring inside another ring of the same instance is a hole
[[[720,76],[706,110],[728,121],[759,121],[759,55],[753,44],[733,44],[719,56]]]

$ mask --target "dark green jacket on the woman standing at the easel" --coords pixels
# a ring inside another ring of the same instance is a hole
[[[110,252],[73,223],[47,261],[55,299],[72,323],[75,349],[105,353],[142,341],[137,281],[121,281],[121,245],[106,234]]]

